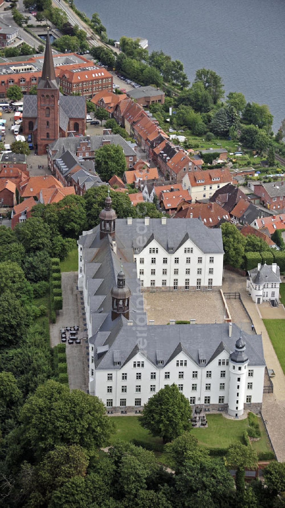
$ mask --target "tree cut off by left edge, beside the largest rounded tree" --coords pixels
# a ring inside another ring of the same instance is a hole
[[[11,372],[0,372],[0,423],[2,431],[8,420],[17,419],[22,394]]]

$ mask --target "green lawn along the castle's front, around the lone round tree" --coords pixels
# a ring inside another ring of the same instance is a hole
[[[131,441],[132,439],[143,440],[148,444],[162,443],[162,439],[152,437],[146,429],[140,426],[138,417],[112,417],[117,426],[117,433],[111,437],[111,443],[114,444],[118,439],[122,441]],[[243,442],[243,431],[248,427],[248,420],[230,420],[222,415],[207,415],[208,427],[206,429],[192,429],[192,433],[197,437],[199,444],[208,448],[227,448],[233,441]],[[265,429],[261,419],[259,420],[261,429],[261,439],[252,444],[257,452],[271,451]],[[161,457],[162,455],[157,454]]]

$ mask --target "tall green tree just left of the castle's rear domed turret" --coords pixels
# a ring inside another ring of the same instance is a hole
[[[58,203],[58,226],[62,235],[78,238],[86,227],[85,201],[81,196],[66,196]]]

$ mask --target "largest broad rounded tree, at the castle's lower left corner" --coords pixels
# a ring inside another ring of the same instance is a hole
[[[20,433],[36,457],[61,443],[78,444],[94,455],[106,446],[114,423],[98,397],[49,380],[39,386],[20,410]]]

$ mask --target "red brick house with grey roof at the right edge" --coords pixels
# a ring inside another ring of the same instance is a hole
[[[284,181],[270,183],[248,181],[248,187],[260,196],[260,203],[268,210],[285,209],[285,184]]]

